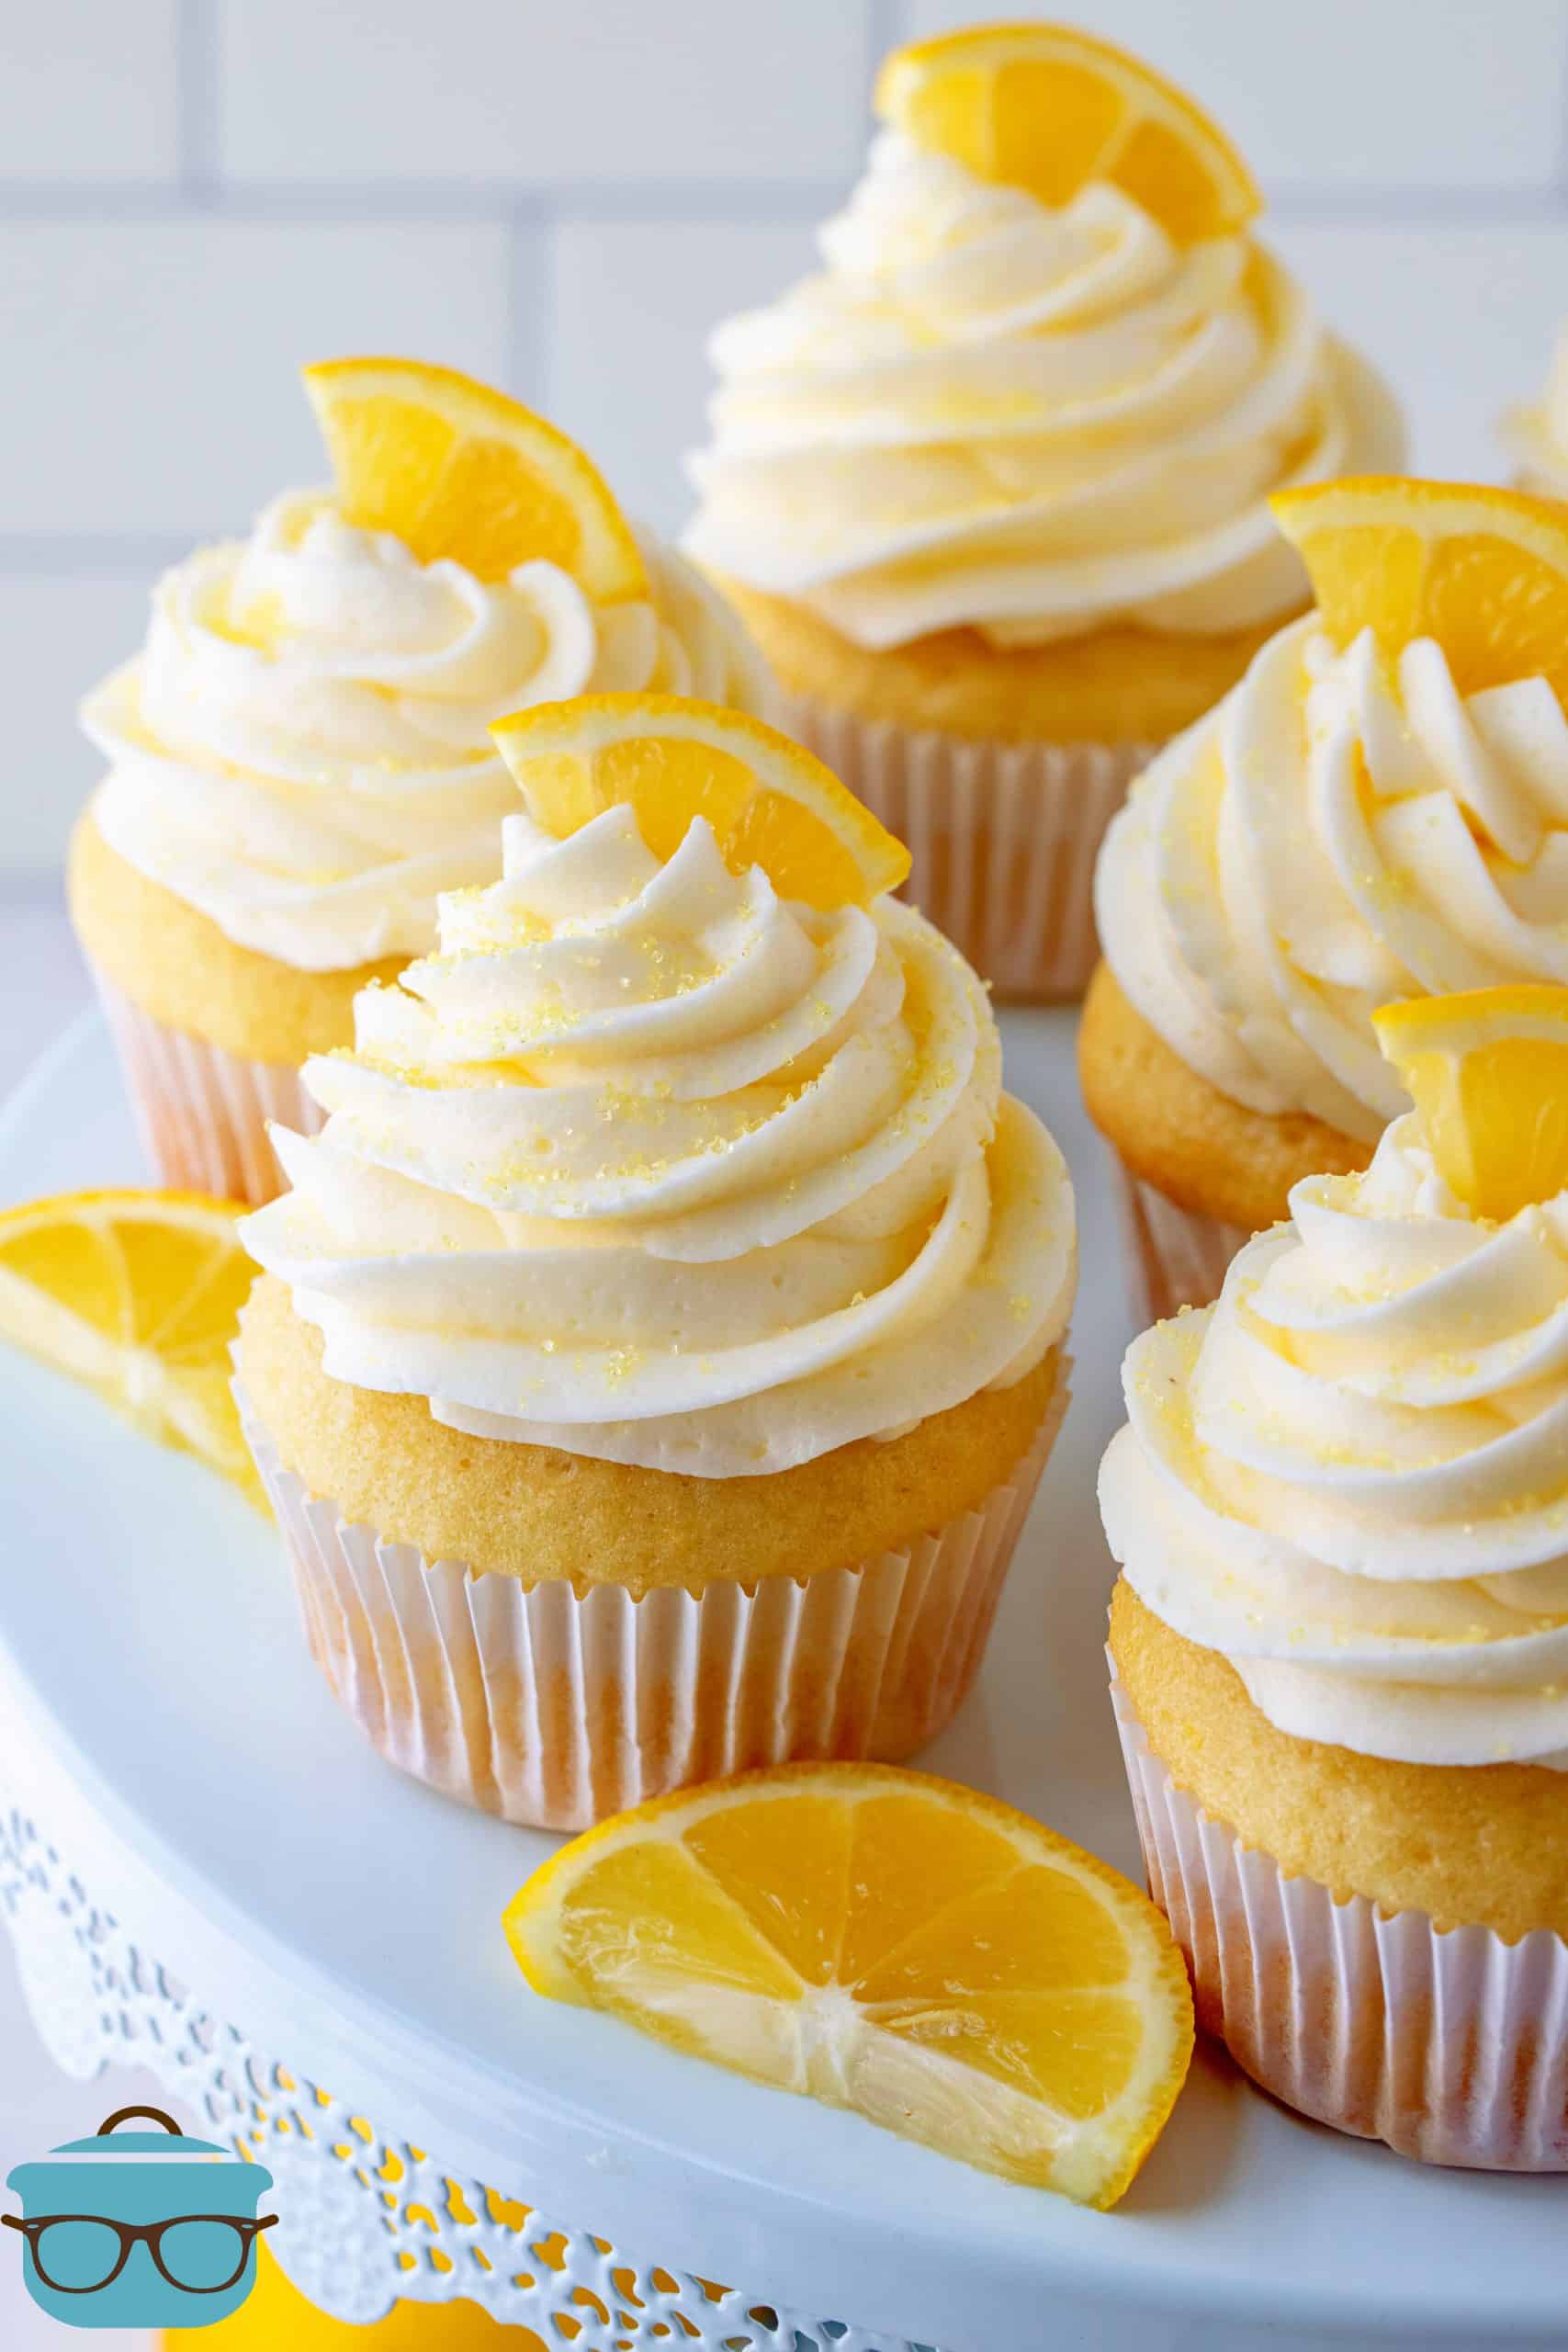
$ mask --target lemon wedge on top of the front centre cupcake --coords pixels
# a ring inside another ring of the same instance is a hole
[[[679,694],[583,694],[496,720],[529,816],[564,840],[628,804],[656,858],[693,816],[731,873],[762,866],[780,898],[856,906],[898,889],[910,851],[823,762],[762,720]]]

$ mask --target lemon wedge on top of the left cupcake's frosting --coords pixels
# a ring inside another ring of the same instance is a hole
[[[543,557],[599,604],[649,593],[597,466],[520,400],[421,360],[322,360],[303,374],[348,522],[482,581]]]

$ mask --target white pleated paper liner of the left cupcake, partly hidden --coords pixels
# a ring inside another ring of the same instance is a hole
[[[125,1087],[143,1150],[158,1178],[181,1192],[216,1192],[252,1207],[282,1192],[282,1169],[268,1120],[313,1136],[324,1120],[299,1070],[280,1061],[244,1061],[205,1037],[143,1014],[94,969],[94,983],[120,1049]]]

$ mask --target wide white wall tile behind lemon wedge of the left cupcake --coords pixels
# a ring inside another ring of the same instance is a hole
[[[240,529],[322,452],[303,360],[510,374],[508,233],[376,221],[5,221],[0,534]]]

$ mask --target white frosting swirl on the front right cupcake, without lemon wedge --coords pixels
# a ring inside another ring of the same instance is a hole
[[[1124,1367],[1110,1548],[1295,1738],[1568,1769],[1568,1195],[1453,1200],[1413,1115]]]

